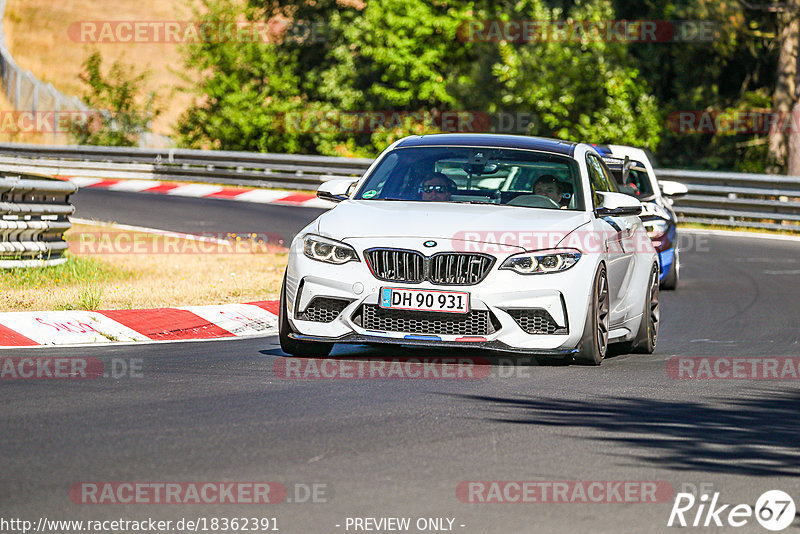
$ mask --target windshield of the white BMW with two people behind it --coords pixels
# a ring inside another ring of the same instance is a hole
[[[584,209],[574,159],[506,148],[398,148],[354,198]]]

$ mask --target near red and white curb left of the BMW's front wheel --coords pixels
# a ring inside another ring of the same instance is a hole
[[[0,348],[271,336],[278,302],[152,310],[0,313]]]

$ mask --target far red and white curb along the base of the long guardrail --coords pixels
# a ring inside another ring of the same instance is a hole
[[[79,188],[108,189],[129,193],[155,193],[174,197],[218,198],[253,202],[256,204],[281,204],[306,208],[332,208],[334,204],[316,197],[313,193],[289,193],[273,189],[255,189],[208,184],[181,184],[159,180],[104,179],[84,176],[57,176],[69,180]]]

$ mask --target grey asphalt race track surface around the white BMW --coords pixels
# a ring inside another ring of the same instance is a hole
[[[185,213],[213,231],[262,222],[291,232],[315,216],[155,196],[148,207],[144,195],[114,192],[79,194],[76,215],[106,218],[113,195],[137,206],[112,213],[115,220],[170,230],[191,230],[181,226]],[[475,380],[287,380],[273,372],[285,358],[276,338],[4,351],[138,358],[142,371],[116,380],[0,381],[0,517],[277,517],[284,533],[354,532],[345,529],[348,517],[396,516],[455,518],[453,530],[464,533],[675,530],[666,526],[672,499],[461,502],[456,487],[475,480],[665,481],[675,491],[703,484],[721,503],[751,506],[781,489],[800,504],[800,381],[676,380],[666,370],[674,356],[800,355],[800,243],[687,234],[683,245],[681,287],[662,293],[657,351],[618,355],[599,368],[493,367]],[[453,356],[366,347],[334,354]],[[326,485],[327,502],[79,505],[68,488],[81,481],[316,483]],[[787,532],[798,527],[800,514]],[[767,532],[752,518],[738,529],[686,530]]]

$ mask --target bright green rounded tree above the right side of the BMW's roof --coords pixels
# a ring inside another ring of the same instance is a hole
[[[520,4],[514,16],[546,22],[615,18],[611,4],[603,0],[576,3],[566,13],[534,0]],[[580,42],[501,42],[500,52],[494,72],[502,82],[502,105],[533,111],[538,121],[530,133],[651,149],[658,144],[658,104],[628,45],[585,36]]]

